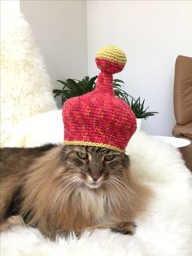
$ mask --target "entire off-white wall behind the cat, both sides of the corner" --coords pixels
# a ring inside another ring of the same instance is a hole
[[[55,87],[57,79],[98,74],[98,49],[120,46],[128,63],[116,77],[131,95],[159,112],[144,121],[142,130],[171,135],[175,60],[192,55],[191,1],[21,0],[20,9]]]

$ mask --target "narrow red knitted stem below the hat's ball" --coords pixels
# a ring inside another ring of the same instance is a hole
[[[96,91],[100,93],[107,93],[115,95],[113,91],[113,77],[111,73],[101,71],[98,75],[98,82],[96,84]]]

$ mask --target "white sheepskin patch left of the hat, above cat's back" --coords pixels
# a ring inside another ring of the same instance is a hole
[[[10,127],[3,147],[36,147],[50,141],[61,143],[63,136],[62,111],[57,109],[39,113]]]

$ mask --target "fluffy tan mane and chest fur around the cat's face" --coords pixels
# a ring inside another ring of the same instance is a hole
[[[116,227],[144,213],[151,192],[133,180],[129,169],[91,189],[76,172],[68,173],[59,157],[62,148],[51,148],[28,166],[26,174],[11,177],[11,187],[20,183],[19,213],[25,223],[55,239],[71,231],[79,236],[86,228]]]

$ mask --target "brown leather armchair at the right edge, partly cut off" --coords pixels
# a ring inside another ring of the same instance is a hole
[[[192,58],[181,55],[175,65],[174,113],[177,124],[172,135],[190,140],[190,145],[180,150],[192,171]]]

